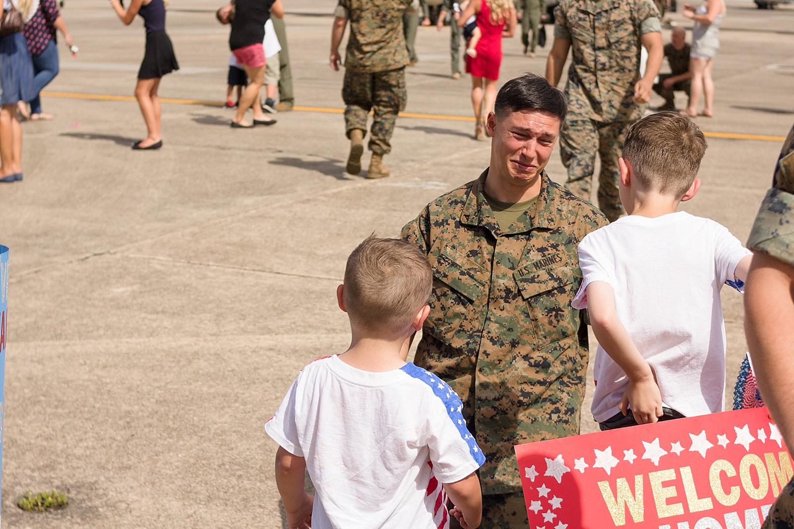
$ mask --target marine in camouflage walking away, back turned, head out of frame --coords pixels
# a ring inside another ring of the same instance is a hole
[[[376,155],[391,152],[391,133],[399,111],[405,108],[405,66],[408,63],[403,38],[403,13],[415,10],[414,0],[339,0],[333,14],[350,22],[345,54],[345,133],[366,135],[367,116],[372,110],[369,150]],[[342,26],[344,31],[344,26]],[[333,50],[332,54],[336,50]]]

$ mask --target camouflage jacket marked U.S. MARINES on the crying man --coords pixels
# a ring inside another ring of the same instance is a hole
[[[537,208],[499,228],[478,180],[431,202],[402,237],[430,259],[416,360],[453,387],[486,456],[484,494],[520,490],[513,446],[579,433],[588,365],[576,247],[607,224],[544,173]]]

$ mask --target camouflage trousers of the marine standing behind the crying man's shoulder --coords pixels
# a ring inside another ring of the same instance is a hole
[[[628,121],[600,122],[568,119],[560,131],[560,154],[568,169],[565,187],[577,197],[590,201],[595,154],[601,161],[598,186],[598,207],[610,222],[623,213],[618,194],[620,169],[618,159],[623,151]]]

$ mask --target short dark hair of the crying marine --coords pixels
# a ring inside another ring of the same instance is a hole
[[[504,117],[508,112],[519,110],[543,110],[565,121],[568,103],[561,90],[551,86],[540,75],[526,73],[504,83],[496,94],[494,113]]]

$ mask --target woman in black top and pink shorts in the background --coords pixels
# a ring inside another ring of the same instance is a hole
[[[228,20],[228,10],[226,11]],[[237,113],[231,122],[234,128],[249,128],[254,125],[273,125],[276,120],[268,118],[259,105],[260,90],[264,84],[264,23],[270,15],[281,18],[284,6],[281,0],[237,0],[229,34],[229,48],[237,58],[237,62],[245,69],[251,82],[245,87],[240,102],[237,104]],[[218,12],[218,19],[223,21],[222,13]],[[245,121],[245,113],[253,109],[253,123]]]

